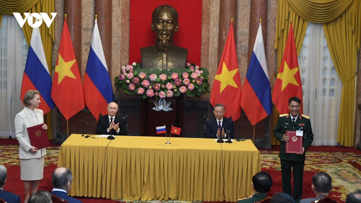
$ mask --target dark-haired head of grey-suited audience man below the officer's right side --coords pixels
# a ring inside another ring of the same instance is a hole
[[[325,172],[318,172],[312,176],[312,190],[318,195],[329,195],[332,190],[332,178]]]

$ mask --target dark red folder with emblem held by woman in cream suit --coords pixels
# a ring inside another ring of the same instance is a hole
[[[44,124],[35,125],[27,128],[29,134],[30,145],[36,147],[38,150],[41,148],[49,147],[48,133],[42,129]]]

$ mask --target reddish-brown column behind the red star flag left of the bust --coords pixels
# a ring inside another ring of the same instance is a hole
[[[78,0],[64,0],[64,14],[66,23],[68,23],[71,43],[73,43],[75,58],[79,68],[79,73],[82,72],[82,1]]]

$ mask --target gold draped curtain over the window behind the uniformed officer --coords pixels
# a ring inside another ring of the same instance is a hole
[[[338,120],[337,142],[344,146],[353,146],[353,126],[355,110],[355,75],[357,64],[357,52],[360,51],[360,29],[361,29],[361,4],[359,0],[279,0],[277,8],[276,43],[277,49],[277,72],[282,60],[284,45],[287,34],[283,32],[282,25],[287,21],[287,17],[293,16],[306,22],[317,22],[323,24],[327,45],[330,49],[331,58],[336,71],[343,83],[341,93],[341,105]],[[296,18],[296,20],[297,20]],[[294,27],[301,27],[300,20],[294,21]],[[301,29],[299,38],[295,30],[295,41],[297,55],[300,51],[307,23]],[[289,27],[288,27],[289,28]],[[282,34],[283,32],[283,34]],[[301,38],[301,39],[300,39]],[[281,42],[280,42],[281,41]],[[283,45],[281,47],[281,45]],[[278,49],[282,48],[282,50]],[[275,117],[275,116],[274,116]],[[277,119],[274,119],[273,126]],[[272,139],[272,144],[274,138]]]

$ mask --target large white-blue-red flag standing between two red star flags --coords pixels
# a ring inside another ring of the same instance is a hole
[[[241,98],[241,107],[252,125],[272,113],[271,101],[271,85],[260,23]]]

